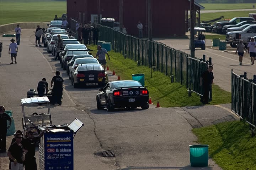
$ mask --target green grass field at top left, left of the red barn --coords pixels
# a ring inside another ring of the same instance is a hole
[[[66,13],[66,1],[0,0],[0,25],[14,22],[49,22]]]

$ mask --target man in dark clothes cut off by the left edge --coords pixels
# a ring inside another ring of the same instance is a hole
[[[9,120],[8,126],[7,120]],[[5,113],[5,107],[0,106],[0,153],[6,152],[6,134],[7,129],[11,127],[11,122],[11,117]]]

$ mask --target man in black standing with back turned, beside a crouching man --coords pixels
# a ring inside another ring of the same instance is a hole
[[[63,78],[60,77],[60,72],[56,71],[56,75],[52,78],[51,81],[51,87],[52,89],[52,97],[53,97],[53,103],[58,103],[59,106],[62,105],[62,90],[63,90]],[[53,85],[54,84],[54,85]]]

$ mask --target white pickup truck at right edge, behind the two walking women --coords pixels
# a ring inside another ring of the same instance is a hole
[[[256,35],[256,25],[251,25],[241,31],[228,32],[226,34],[226,43],[229,43],[231,47],[236,47],[237,44],[239,43],[239,40],[243,40],[244,45],[247,48],[248,36],[252,37],[255,35]]]

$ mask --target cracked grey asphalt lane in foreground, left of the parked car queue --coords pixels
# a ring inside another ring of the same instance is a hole
[[[202,169],[190,166],[189,145],[197,144],[192,128],[237,119],[228,109],[230,104],[182,108],[155,108],[150,105],[148,110],[98,111],[98,88],[74,89],[65,71],[60,69],[59,62],[52,60],[45,48],[34,47],[33,31],[22,30],[17,64],[12,65],[7,53],[11,38],[1,37],[0,103],[6,110],[13,111],[16,130],[22,129],[20,99],[26,98],[27,90],[36,88],[43,77],[50,83],[55,71],[60,70],[65,85],[64,100],[62,106],[51,106],[52,123],[69,124],[75,118],[84,123],[74,138],[75,170]],[[215,58],[213,61],[215,63]],[[117,78],[110,74],[110,79]],[[26,107],[25,111],[27,115],[42,113],[45,106]],[[7,137],[7,148],[11,138]],[[113,150],[116,157],[102,157],[101,151],[105,150]],[[0,154],[0,164],[2,170],[8,168],[6,153]],[[203,169],[220,168],[209,159],[209,166]]]

